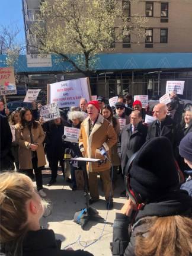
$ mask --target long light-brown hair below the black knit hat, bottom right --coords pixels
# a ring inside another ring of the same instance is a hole
[[[145,233],[137,233],[136,256],[189,256],[192,252],[190,217],[148,217],[145,223],[152,226]]]

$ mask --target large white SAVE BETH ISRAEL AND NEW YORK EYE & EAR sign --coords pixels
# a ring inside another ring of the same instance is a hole
[[[77,106],[81,98],[89,101],[88,78],[72,79],[50,84],[48,98],[50,103],[57,103],[59,108]]]

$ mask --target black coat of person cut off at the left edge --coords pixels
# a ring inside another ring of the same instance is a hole
[[[12,133],[6,116],[0,114],[0,171],[11,169],[14,158],[11,154]]]

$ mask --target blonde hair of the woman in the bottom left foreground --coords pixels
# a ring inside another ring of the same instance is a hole
[[[22,242],[28,231],[25,206],[33,193],[33,183],[26,175],[0,174],[0,242],[6,255],[22,255]]]

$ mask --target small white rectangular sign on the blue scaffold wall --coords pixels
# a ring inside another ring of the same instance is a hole
[[[52,67],[52,55],[27,55],[27,67]]]

